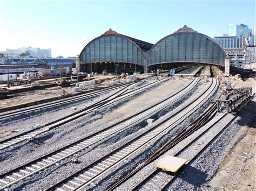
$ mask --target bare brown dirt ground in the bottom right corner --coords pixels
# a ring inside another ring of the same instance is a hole
[[[212,188],[224,190],[255,190],[256,121],[242,127],[244,138],[234,146],[217,174],[208,182]]]

